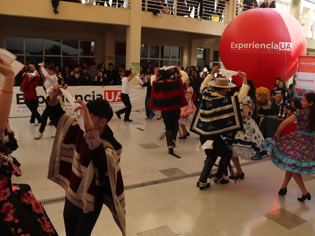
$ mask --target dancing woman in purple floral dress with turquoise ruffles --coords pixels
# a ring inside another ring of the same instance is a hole
[[[311,200],[302,175],[315,174],[315,93],[305,93],[302,97],[302,107],[283,121],[273,138],[267,138],[262,148],[271,155],[272,162],[285,171],[284,182],[280,195],[287,193],[287,185],[291,179],[299,185],[302,197],[299,201]],[[296,132],[279,137],[284,127],[296,122]]]

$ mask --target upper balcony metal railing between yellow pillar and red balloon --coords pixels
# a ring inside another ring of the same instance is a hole
[[[142,2],[142,11],[153,12],[153,14],[171,14],[198,18],[200,20],[212,20],[226,24],[229,19],[230,3],[219,0],[167,0],[157,2],[154,0],[145,0]],[[201,10],[200,10],[201,9]]]

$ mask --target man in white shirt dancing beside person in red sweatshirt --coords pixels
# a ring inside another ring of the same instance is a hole
[[[46,69],[44,68],[44,62],[41,65],[41,70],[43,72],[43,75],[45,76],[45,90],[49,89],[50,87],[53,87],[55,84],[58,84],[58,77],[55,74],[55,67],[53,65],[46,66]],[[48,119],[49,111],[47,107],[43,111],[42,114],[42,122],[40,124],[39,132],[34,137],[35,139],[39,139],[43,136],[43,132],[46,128],[47,119]],[[52,136],[54,138],[54,135]]]

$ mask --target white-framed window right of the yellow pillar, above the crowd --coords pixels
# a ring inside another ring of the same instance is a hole
[[[169,45],[141,44],[140,60],[144,65],[151,62],[159,67],[180,66],[180,47]]]

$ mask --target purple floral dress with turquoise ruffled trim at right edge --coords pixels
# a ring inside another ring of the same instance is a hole
[[[315,174],[315,133],[310,133],[308,110],[296,110],[296,132],[279,141],[267,138],[262,148],[271,154],[273,164],[285,171]]]

